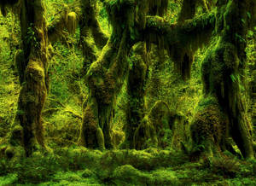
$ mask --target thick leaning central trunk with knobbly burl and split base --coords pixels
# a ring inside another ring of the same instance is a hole
[[[133,45],[130,34],[134,3],[104,3],[113,32],[86,75],[90,94],[84,102],[79,143],[88,148],[113,148],[110,137],[113,108],[128,69],[127,55]]]

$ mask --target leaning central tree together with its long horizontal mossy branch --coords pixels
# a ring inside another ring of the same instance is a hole
[[[161,43],[161,50],[163,47],[169,49],[172,58],[180,63],[177,51],[190,49],[191,44],[192,49],[197,49],[201,46],[201,41],[209,38],[214,24],[213,14],[202,15],[184,24],[168,24],[159,16],[164,15],[168,1],[127,0],[103,3],[108,11],[113,32],[108,44],[102,49],[101,56],[92,63],[87,73],[90,95],[84,102],[84,119],[79,141],[90,148],[104,148],[104,143],[107,148],[112,147],[110,123],[113,118],[113,106],[125,79],[128,67],[126,58],[132,45],[142,39],[148,44]],[[204,32],[202,37],[201,32]],[[195,34],[195,37],[187,36],[191,34]],[[134,131],[130,132],[131,134],[129,132],[127,136],[132,136]]]

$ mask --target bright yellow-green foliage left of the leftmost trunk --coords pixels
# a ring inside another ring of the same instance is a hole
[[[14,17],[0,16],[0,142],[10,129],[15,116],[17,98],[20,91],[19,78],[15,71],[14,52],[11,52],[13,34],[9,34],[9,24],[14,23]]]

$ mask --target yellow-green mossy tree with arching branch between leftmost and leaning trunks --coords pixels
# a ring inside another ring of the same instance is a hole
[[[86,74],[93,61],[96,61],[96,47],[102,49],[108,42],[107,33],[102,31],[102,27],[97,20],[97,1],[79,0],[68,3],[55,15],[55,19],[49,25],[49,41],[55,43],[56,40],[66,40],[67,33],[75,33],[77,27],[80,31],[80,44],[84,55],[83,73]],[[67,31],[67,32],[65,32]],[[91,42],[94,39],[96,47]],[[65,42],[64,42],[65,44]]]

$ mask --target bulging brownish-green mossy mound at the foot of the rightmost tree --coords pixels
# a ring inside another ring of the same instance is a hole
[[[219,108],[217,98],[211,96],[202,99],[190,125],[194,146],[192,155],[206,152],[211,157],[218,153],[225,144],[227,124],[227,117]]]

